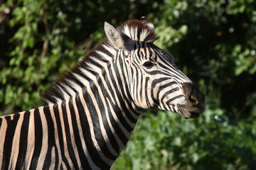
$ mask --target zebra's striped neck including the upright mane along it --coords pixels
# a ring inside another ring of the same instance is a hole
[[[70,118],[79,122],[78,131],[85,141],[82,149],[89,153],[88,164],[94,168],[112,166],[139,118],[140,110],[129,94],[125,78],[127,67],[119,52],[107,42],[98,45],[70,75],[56,84],[63,96],[55,95],[58,98],[53,99],[62,100],[57,101],[58,105],[69,108]]]

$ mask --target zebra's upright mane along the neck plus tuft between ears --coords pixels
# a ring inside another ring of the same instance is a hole
[[[150,27],[151,23],[144,23],[138,20],[129,20],[119,26],[117,29],[125,33],[134,41],[154,42],[158,39],[154,33],[154,28]],[[153,26],[153,25],[152,25]],[[154,26],[153,26],[154,27]],[[66,72],[60,79],[43,94],[42,101],[45,104],[57,103],[74,96],[85,85],[78,80],[75,75],[82,75],[81,69],[88,69],[93,72],[93,67],[97,62],[107,62],[107,58],[113,57],[117,53],[111,43],[105,38],[96,45],[70,72]],[[94,64],[92,64],[94,63]],[[97,71],[95,71],[97,73]]]

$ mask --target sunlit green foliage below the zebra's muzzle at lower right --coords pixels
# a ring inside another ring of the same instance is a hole
[[[143,113],[112,169],[254,169],[255,123],[235,123],[213,106],[196,120]]]

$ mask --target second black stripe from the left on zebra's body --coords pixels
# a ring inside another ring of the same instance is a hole
[[[26,111],[26,113],[24,113],[24,118],[21,125],[21,136],[20,136],[20,142],[19,142],[16,169],[19,169],[22,166],[26,167],[26,164],[24,161],[26,158],[26,149],[28,147],[28,127],[29,127],[30,115],[31,115],[30,111]]]

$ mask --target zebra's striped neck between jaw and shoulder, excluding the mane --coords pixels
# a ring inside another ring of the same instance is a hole
[[[120,71],[120,62],[112,57],[100,66],[80,68],[77,78],[85,86],[66,103],[80,125],[78,129],[85,141],[83,150],[92,159],[90,166],[105,169],[112,166],[124,149],[139,113],[129,95],[123,71]]]

